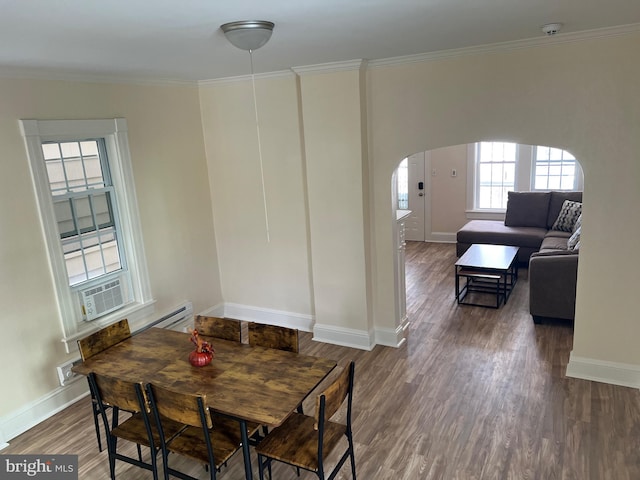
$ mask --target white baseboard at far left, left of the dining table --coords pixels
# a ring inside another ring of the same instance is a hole
[[[64,410],[86,395],[89,395],[89,385],[84,377],[79,377],[68,385],[58,387],[10,415],[0,418],[0,449],[7,447],[12,438]]]

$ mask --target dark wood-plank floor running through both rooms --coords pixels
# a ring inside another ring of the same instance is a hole
[[[456,304],[454,262],[453,245],[408,243],[411,324],[401,348],[365,352],[301,336],[302,353],[341,366],[356,361],[358,478],[640,479],[640,391],[565,377],[573,330],[533,324],[526,269],[508,303],[493,310]],[[305,401],[306,412],[313,401]],[[88,398],[10,443],[1,454],[75,453],[81,479],[108,478]],[[208,478],[200,466],[190,468]],[[116,472],[119,479],[151,478],[122,463]],[[345,465],[337,478],[350,479],[349,472]],[[273,473],[298,478],[282,464]],[[219,478],[244,478],[242,456]]]

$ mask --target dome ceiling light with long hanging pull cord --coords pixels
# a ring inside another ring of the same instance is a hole
[[[253,88],[253,109],[256,115],[256,133],[258,136],[258,157],[260,159],[260,180],[262,182],[262,202],[264,205],[264,223],[267,233],[267,243],[270,243],[269,235],[269,214],[267,209],[267,193],[264,186],[264,167],[262,163],[262,142],[260,141],[260,122],[258,121],[258,102],[256,100],[256,80],[253,73],[253,51],[262,47],[271,38],[273,33],[273,22],[266,20],[242,20],[220,25],[227,40],[241,50],[249,52],[251,63],[251,86]]]

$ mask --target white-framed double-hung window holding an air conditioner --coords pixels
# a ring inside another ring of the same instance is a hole
[[[126,121],[21,120],[20,126],[67,348],[114,320],[135,323],[149,315]]]

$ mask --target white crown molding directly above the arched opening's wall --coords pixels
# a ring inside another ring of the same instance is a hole
[[[560,43],[582,42],[595,38],[629,35],[637,32],[640,32],[640,23],[620,25],[616,27],[597,28],[594,30],[583,30],[573,33],[558,33],[552,36],[527,38],[524,40],[515,40],[510,42],[490,43],[485,45],[476,45],[473,47],[454,48],[450,50],[439,50],[437,52],[420,53],[416,55],[382,58],[378,60],[370,60],[369,66],[375,68],[408,63],[430,62],[434,60],[462,57],[467,55],[498,53],[523,48],[557,45]]]

